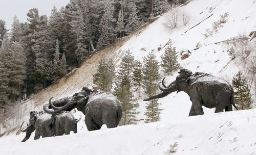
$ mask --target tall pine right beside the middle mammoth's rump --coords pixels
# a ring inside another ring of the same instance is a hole
[[[138,103],[134,103],[134,95],[132,91],[132,67],[134,64],[134,56],[130,50],[126,50],[122,57],[120,69],[118,70],[116,78],[116,87],[114,95],[120,100],[122,107],[122,118],[120,125],[136,124],[136,108]]]

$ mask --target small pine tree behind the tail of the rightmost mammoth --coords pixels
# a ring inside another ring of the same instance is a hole
[[[246,82],[245,77],[239,71],[235,77],[233,77],[232,85],[237,91],[234,92],[234,102],[239,110],[251,109],[252,98],[250,95],[250,89]]]

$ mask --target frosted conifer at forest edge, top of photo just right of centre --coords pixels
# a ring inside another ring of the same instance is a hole
[[[127,2],[126,10],[126,25],[124,31],[126,34],[130,34],[140,26],[140,21],[137,16],[137,9],[134,2]]]

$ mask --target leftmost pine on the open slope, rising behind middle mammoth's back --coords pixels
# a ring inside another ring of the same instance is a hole
[[[99,61],[98,69],[93,74],[93,89],[99,89],[104,92],[110,92],[115,78],[114,61],[110,59],[108,62],[103,58]]]

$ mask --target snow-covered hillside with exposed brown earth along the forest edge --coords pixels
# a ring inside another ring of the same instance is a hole
[[[232,77],[243,70],[243,66],[235,60],[230,61],[227,49],[231,46],[221,41],[241,34],[249,37],[251,31],[256,31],[256,1],[193,0],[178,9],[180,16],[182,13],[189,15],[186,25],[180,18],[178,27],[170,28],[168,12],[106,46],[73,73],[23,102],[24,120],[28,121],[31,110],[42,110],[50,97],[55,100],[70,96],[83,86],[91,87],[92,75],[101,58],[114,58],[119,65],[122,51],[130,49],[135,59],[141,62],[150,51],[154,51],[160,61],[169,40],[173,41],[177,51],[183,50],[183,54],[189,55],[184,60],[179,55],[182,67],[193,73],[204,71],[231,83]],[[226,12],[223,27],[205,37],[206,30],[212,29],[212,23]],[[193,28],[194,25],[197,26]],[[250,43],[256,49],[256,38]],[[249,56],[255,55],[255,50],[252,51]],[[167,76],[166,83],[175,80],[176,76],[177,73]],[[144,97],[138,98],[138,119],[145,118]],[[75,117],[80,119],[78,134],[33,141],[33,133],[24,143],[20,141],[25,134],[3,136],[0,138],[1,154],[256,154],[256,109],[214,114],[214,109],[204,108],[204,115],[188,117],[191,101],[184,92],[169,94],[159,102],[163,109],[159,122],[144,124],[141,120],[137,125],[112,129],[104,126],[99,131],[88,132],[84,115],[76,111]]]

